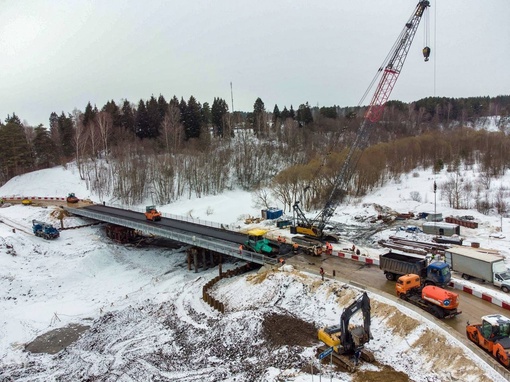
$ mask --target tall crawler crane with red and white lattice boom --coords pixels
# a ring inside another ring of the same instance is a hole
[[[372,126],[377,123],[383,115],[384,106],[388,100],[395,83],[400,75],[402,67],[404,66],[407,53],[411,47],[414,36],[427,8],[430,7],[430,2],[427,0],[418,2],[411,17],[404,26],[396,43],[393,45],[390,53],[386,57],[383,65],[378,70],[377,75],[372,80],[371,85],[365,92],[365,95],[372,88],[377,77],[382,74],[382,77],[377,85],[372,100],[363,116],[363,122],[356,134],[354,142],[352,143],[345,161],[336,174],[333,187],[327,199],[327,202],[321,212],[312,220],[308,219],[301,207],[299,201],[293,205],[294,210],[294,225],[291,227],[291,233],[302,234],[311,238],[319,240],[334,241],[334,236],[326,236],[324,229],[333,216],[336,208],[342,202],[345,190],[354,172],[354,167],[361,155],[360,149],[363,148],[371,132]],[[428,61],[430,56],[430,48],[423,49],[425,61]],[[364,97],[363,97],[364,98]]]

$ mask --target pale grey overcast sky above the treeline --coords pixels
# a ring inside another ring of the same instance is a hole
[[[354,106],[417,2],[0,0],[0,118],[48,126],[159,94],[231,108],[231,82],[235,110]],[[509,0],[432,0],[429,16],[431,60],[423,19],[391,99],[510,94]]]

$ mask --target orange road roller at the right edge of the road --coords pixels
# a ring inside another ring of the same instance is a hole
[[[466,335],[503,366],[510,368],[510,318],[501,314],[483,316],[481,324],[467,323]]]

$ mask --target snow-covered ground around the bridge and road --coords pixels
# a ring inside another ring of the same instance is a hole
[[[480,228],[461,228],[466,240],[510,257],[508,218],[450,210],[439,198],[434,205],[433,182],[446,174],[417,174],[338,208],[334,220],[364,224],[359,217],[377,215],[374,205],[398,212],[437,208],[444,216],[473,215]],[[411,198],[413,191],[420,193],[421,202],[415,201],[416,195]],[[64,197],[68,192],[96,200],[72,166],[26,174],[0,188],[0,196]],[[251,194],[244,192],[159,208],[230,226],[243,226],[244,217],[260,215]],[[310,370],[320,367],[315,359],[319,343],[271,344],[264,326],[267,317],[287,315],[315,327],[333,325],[360,295],[353,287],[321,282],[308,273],[266,270],[216,284],[212,293],[226,305],[220,314],[201,298],[202,287],[217,275],[217,268],[190,272],[183,253],[118,245],[97,226],[64,230],[53,241],[35,237],[32,219],[58,226],[55,209],[0,208],[0,380],[311,381],[318,378]],[[64,220],[66,227],[83,223],[76,217]],[[505,238],[491,238],[501,225]],[[383,230],[379,237],[394,233],[394,228]],[[371,381],[377,375],[405,380],[399,373],[413,381],[505,380],[442,327],[378,295],[371,293],[370,298],[374,339],[367,348],[380,365],[362,364],[354,375],[334,372],[334,381]],[[357,320],[361,318],[355,316],[352,322]],[[90,329],[64,351],[23,351],[37,336],[73,323]],[[322,366],[322,377],[329,372]]]

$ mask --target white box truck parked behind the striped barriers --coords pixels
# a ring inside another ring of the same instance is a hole
[[[510,272],[502,255],[471,247],[452,247],[444,254],[446,263],[453,271],[462,273],[462,278],[479,278],[510,292]]]

